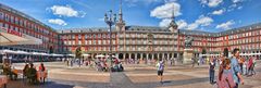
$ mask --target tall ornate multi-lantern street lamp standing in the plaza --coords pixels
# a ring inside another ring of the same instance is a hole
[[[116,23],[116,14],[112,13],[112,10],[109,11],[109,17],[108,14],[105,13],[104,15],[104,22],[107,23],[107,25],[109,25],[110,27],[110,60],[111,60],[111,68],[112,68],[112,30],[111,27],[113,25],[115,25]]]

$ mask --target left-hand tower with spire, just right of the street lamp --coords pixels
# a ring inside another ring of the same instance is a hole
[[[119,12],[119,21],[116,23],[116,30],[124,32],[125,30],[125,22],[123,21],[123,12],[122,12],[122,0],[120,0],[120,12]]]

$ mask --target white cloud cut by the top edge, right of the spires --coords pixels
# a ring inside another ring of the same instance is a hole
[[[199,1],[201,4],[208,5],[210,8],[217,7],[223,2],[223,0],[199,0]]]

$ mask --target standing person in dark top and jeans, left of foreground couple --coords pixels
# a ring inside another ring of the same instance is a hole
[[[214,68],[215,68],[215,62],[213,58],[211,58],[209,63],[210,84],[214,84],[214,73],[215,73]]]

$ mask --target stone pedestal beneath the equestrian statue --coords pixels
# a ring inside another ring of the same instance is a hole
[[[192,63],[192,49],[184,49],[184,54],[183,54],[183,63],[184,64],[190,64]]]

